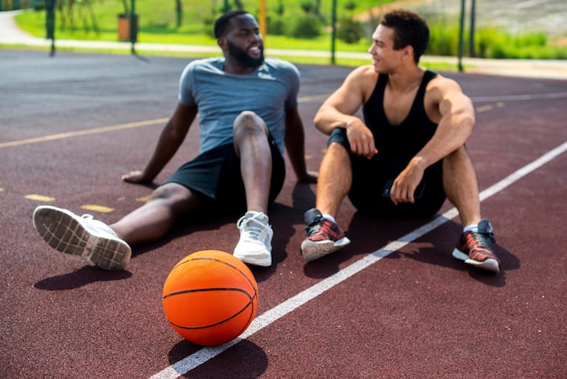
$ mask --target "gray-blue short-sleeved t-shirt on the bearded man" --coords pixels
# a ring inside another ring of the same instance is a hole
[[[181,74],[179,102],[197,105],[199,152],[232,143],[233,122],[243,111],[260,116],[283,154],[285,110],[297,107],[300,74],[292,64],[266,58],[253,73],[225,73],[225,58],[193,61]]]

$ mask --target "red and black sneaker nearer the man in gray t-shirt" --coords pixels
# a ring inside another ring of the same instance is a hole
[[[322,218],[319,209],[309,209],[303,218],[307,238],[302,242],[302,255],[306,261],[322,258],[351,243],[335,222]]]

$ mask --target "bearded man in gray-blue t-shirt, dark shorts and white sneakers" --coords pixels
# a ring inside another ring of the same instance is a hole
[[[264,59],[258,24],[245,11],[219,17],[215,35],[224,57],[187,65],[179,81],[178,106],[152,157],[144,170],[122,180],[154,180],[198,114],[197,158],[181,166],[143,206],[111,225],[67,209],[38,207],[34,226],[50,246],[119,270],[130,261],[131,244],[164,237],[178,219],[204,209],[240,209],[245,215],[236,223],[240,239],[235,257],[252,265],[272,264],[274,232],[267,210],[283,186],[284,147],[297,180],[317,180],[317,173],[305,165],[303,122],[297,111],[299,72],[291,63]]]

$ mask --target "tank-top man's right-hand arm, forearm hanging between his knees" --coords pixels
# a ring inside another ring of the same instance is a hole
[[[413,194],[424,171],[463,146],[475,125],[473,103],[460,86],[447,78],[435,81],[428,88],[426,108],[431,120],[438,122],[437,131],[394,181],[390,197],[396,204],[414,202]]]

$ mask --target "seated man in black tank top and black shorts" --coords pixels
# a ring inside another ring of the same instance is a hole
[[[405,219],[429,218],[449,199],[464,226],[453,257],[499,272],[465,146],[473,104],[455,81],[419,67],[428,39],[419,15],[383,15],[372,34],[372,64],[353,70],[315,115],[315,126],[330,138],[316,208],[305,212],[306,260],[350,243],[334,219],[345,196],[361,212]],[[360,107],[363,121],[354,116]]]

